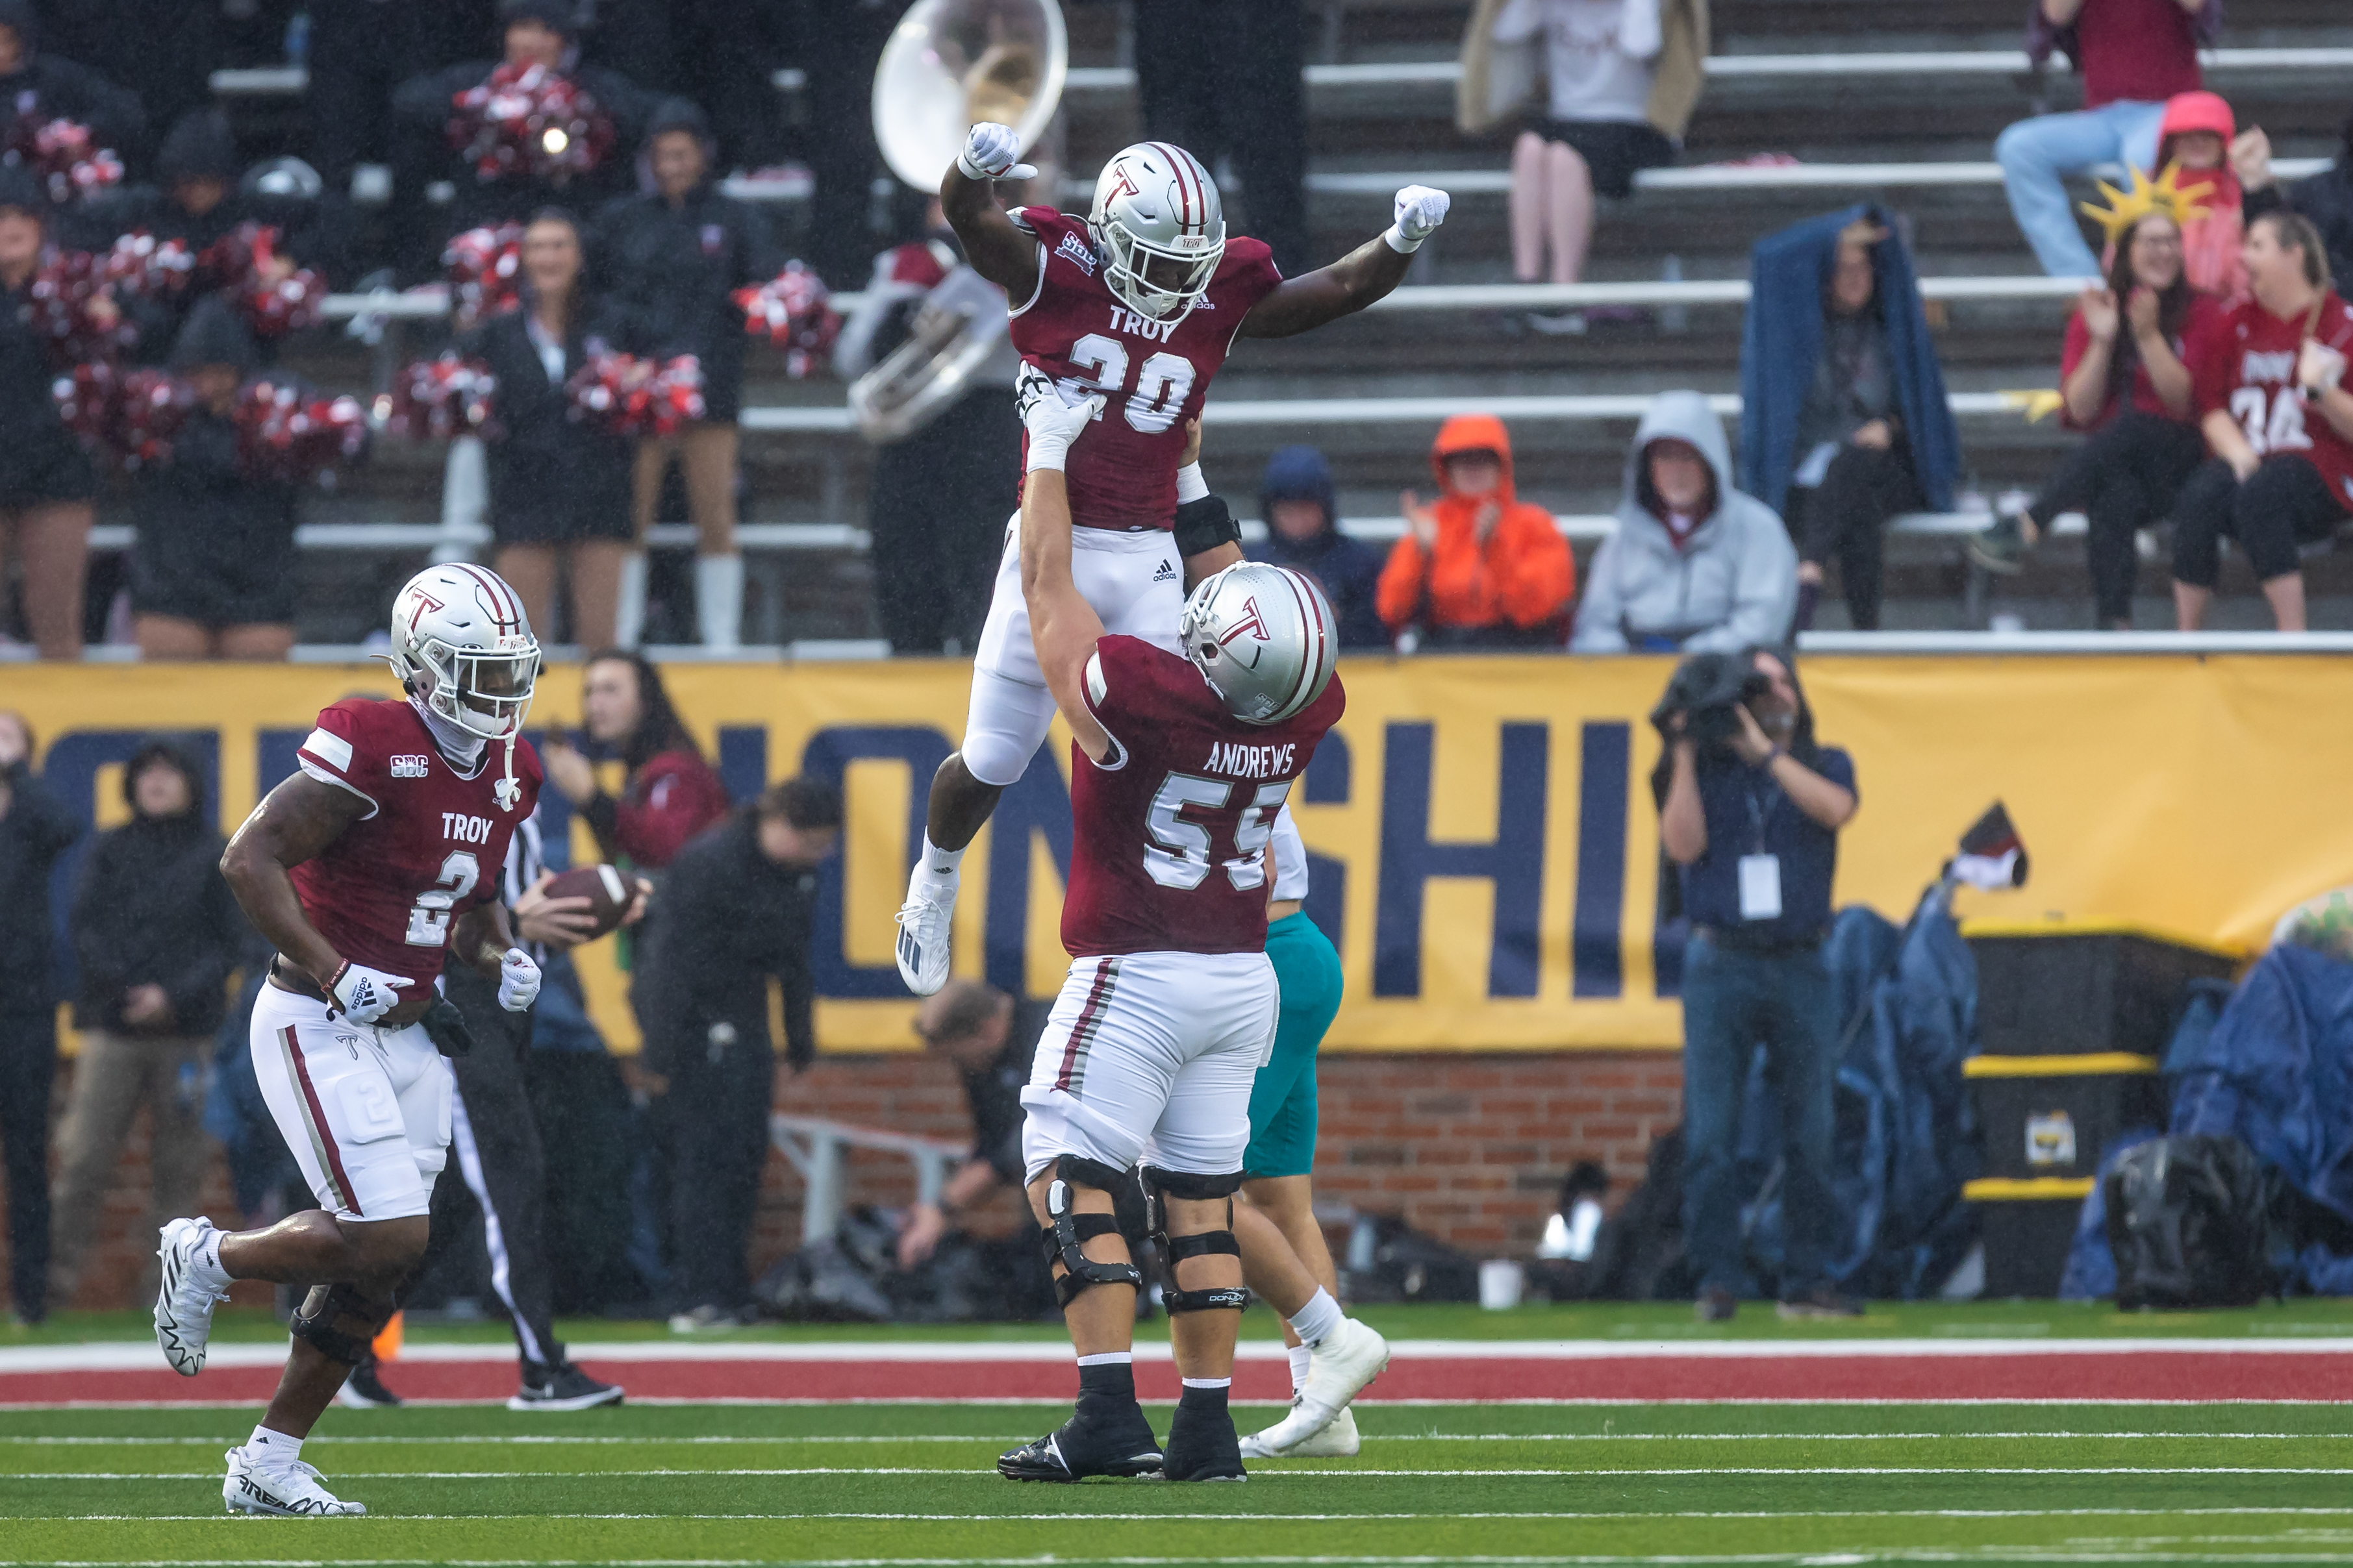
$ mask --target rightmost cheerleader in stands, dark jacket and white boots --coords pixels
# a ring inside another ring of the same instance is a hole
[[[704,367],[704,418],[671,437],[638,444],[635,510],[640,555],[635,592],[645,597],[645,531],[654,527],[661,480],[678,463],[694,522],[694,618],[704,646],[732,649],[744,623],[744,557],[736,552],[736,416],[744,411],[744,313],[736,289],[767,282],[784,266],[767,219],[720,195],[711,169],[711,125],[685,99],[668,99],[645,136],[654,188],[612,202],[598,216],[595,254],[612,289],[647,315],[661,353],[694,355]],[[635,642],[642,609],[621,644]]]

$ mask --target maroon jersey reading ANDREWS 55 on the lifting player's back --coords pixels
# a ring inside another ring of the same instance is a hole
[[[1294,719],[1242,724],[1184,656],[1094,644],[1087,710],[1113,750],[1071,748],[1071,957],[1264,952],[1275,813],[1344,705],[1334,675]]]

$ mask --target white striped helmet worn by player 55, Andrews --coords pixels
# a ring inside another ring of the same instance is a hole
[[[1304,571],[1240,562],[1202,578],[1184,602],[1176,639],[1200,677],[1245,724],[1282,724],[1332,684],[1339,663],[1332,604]]]

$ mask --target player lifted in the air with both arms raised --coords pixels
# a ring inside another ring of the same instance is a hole
[[[1261,242],[1226,240],[1217,183],[1184,148],[1139,141],[1120,150],[1094,181],[1087,219],[998,209],[991,181],[1031,172],[1016,155],[1012,129],[974,125],[939,202],[974,270],[1012,299],[1021,360],[1068,400],[1101,397],[1064,480],[1078,595],[1108,630],[1176,651],[1186,583],[1242,559],[1231,520],[1169,534],[1176,503],[1205,494],[1198,470],[1179,475],[1179,456],[1209,378],[1235,339],[1308,331],[1395,289],[1445,221],[1447,193],[1398,190],[1386,233],[1285,280]],[[972,665],[965,745],[932,778],[922,856],[899,910],[899,976],[918,997],[948,983],[965,846],[1054,722],[1019,569],[1019,545],[1007,538]]]

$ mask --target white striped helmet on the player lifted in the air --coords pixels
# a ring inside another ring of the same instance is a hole
[[[1226,207],[1200,160],[1167,141],[1120,148],[1087,212],[1104,284],[1136,315],[1184,317],[1226,254]]]

